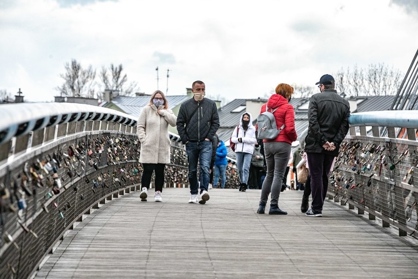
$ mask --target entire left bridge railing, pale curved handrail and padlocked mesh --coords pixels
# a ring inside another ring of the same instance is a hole
[[[2,105],[0,119],[0,278],[27,278],[83,215],[139,187],[137,121],[62,103]],[[169,137],[165,187],[188,187],[184,146]]]

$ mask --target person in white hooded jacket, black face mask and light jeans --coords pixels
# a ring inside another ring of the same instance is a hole
[[[257,143],[256,128],[253,126],[253,116],[250,112],[242,113],[239,125],[232,132],[231,141],[235,142],[236,168],[240,181],[238,190],[245,192],[250,173],[251,156],[254,152],[254,145]]]

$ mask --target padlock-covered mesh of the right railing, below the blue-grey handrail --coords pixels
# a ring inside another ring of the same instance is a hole
[[[328,191],[345,203],[352,200],[368,211],[418,229],[417,217],[413,217],[417,216],[417,164],[416,145],[392,140],[344,140]]]

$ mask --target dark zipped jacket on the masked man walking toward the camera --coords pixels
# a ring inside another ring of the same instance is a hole
[[[190,119],[196,108],[198,111]],[[219,115],[215,102],[207,98],[203,98],[200,102],[195,101],[194,98],[184,101],[180,106],[176,124],[183,144],[187,140],[202,141],[205,138],[212,140],[219,129]],[[184,129],[186,124],[187,128]]]

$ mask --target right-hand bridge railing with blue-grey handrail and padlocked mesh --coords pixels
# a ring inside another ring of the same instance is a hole
[[[418,237],[418,111],[353,113],[349,123],[328,197]]]

